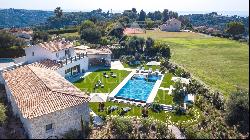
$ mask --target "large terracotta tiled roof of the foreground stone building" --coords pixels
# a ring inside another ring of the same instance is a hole
[[[24,118],[32,119],[89,100],[53,70],[26,65],[4,72],[3,77]]]

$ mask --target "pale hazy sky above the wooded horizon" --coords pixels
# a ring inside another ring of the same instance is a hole
[[[64,11],[122,12],[133,7],[140,11],[249,11],[249,0],[0,0],[0,9],[53,10],[60,6]]]

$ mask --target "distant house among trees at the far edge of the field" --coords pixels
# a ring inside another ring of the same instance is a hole
[[[160,25],[160,30],[168,32],[179,32],[181,29],[181,22],[175,18],[169,19],[166,23]]]

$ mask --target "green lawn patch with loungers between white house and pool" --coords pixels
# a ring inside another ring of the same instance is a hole
[[[106,72],[110,75],[110,72],[114,72],[117,77],[113,78],[109,76],[109,78],[105,78],[103,76],[103,72]],[[88,76],[86,76],[84,79],[81,79],[79,81],[74,82],[73,84],[78,87],[82,91],[88,91],[90,93],[110,93],[112,92],[116,86],[118,86],[122,80],[128,76],[130,72],[124,71],[124,70],[98,70],[95,72],[92,72]],[[104,84],[104,88],[97,88],[94,90],[95,83],[101,80],[101,82]]]

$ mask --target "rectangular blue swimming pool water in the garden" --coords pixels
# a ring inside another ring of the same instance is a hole
[[[128,80],[114,97],[146,102],[158,77],[152,80],[147,80],[144,75],[134,75],[133,77],[134,78]]]

